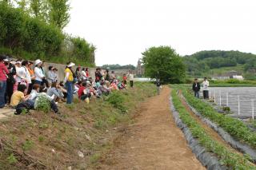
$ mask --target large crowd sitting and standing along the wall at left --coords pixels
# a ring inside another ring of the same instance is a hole
[[[58,79],[58,69],[50,65],[44,69],[44,62],[10,60],[0,56],[0,108],[7,105],[21,113],[22,109],[38,109],[46,101],[54,113],[58,113],[58,103],[71,104],[74,95],[82,101],[90,102],[92,97],[108,95],[113,90],[126,89],[127,80],[133,87],[134,74],[130,71],[122,78],[116,77],[114,71],[97,68],[95,80],[88,68],[77,67],[68,62],[64,80]],[[121,80],[122,79],[122,80]]]

